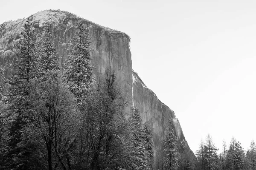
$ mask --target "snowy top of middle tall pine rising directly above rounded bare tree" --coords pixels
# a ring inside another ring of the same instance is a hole
[[[39,77],[43,78],[47,74],[58,75],[60,68],[58,66],[58,55],[54,43],[52,42],[51,26],[49,23],[44,24],[44,31],[37,49],[38,72]]]

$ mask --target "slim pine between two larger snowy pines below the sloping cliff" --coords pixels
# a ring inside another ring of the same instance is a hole
[[[153,143],[153,133],[151,126],[148,121],[143,125],[143,131],[145,133],[145,150],[147,153],[148,167],[150,170],[154,169],[154,143]]]

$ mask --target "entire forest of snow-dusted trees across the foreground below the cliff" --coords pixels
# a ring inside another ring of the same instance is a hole
[[[20,37],[9,77],[0,66],[0,170],[256,170],[253,141],[245,152],[233,137],[218,154],[208,135],[195,156],[178,146],[172,119],[155,150],[115,71],[93,71],[82,22],[64,68],[49,23],[38,36],[29,17]]]

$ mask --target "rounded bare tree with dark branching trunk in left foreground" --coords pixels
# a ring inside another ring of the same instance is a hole
[[[49,77],[45,82],[32,83],[30,98],[33,125],[28,128],[35,134],[33,140],[41,143],[48,169],[61,166],[71,170],[79,124],[74,96],[61,79]]]

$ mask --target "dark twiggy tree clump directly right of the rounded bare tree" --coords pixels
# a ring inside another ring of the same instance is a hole
[[[116,82],[116,76],[107,69],[105,76],[97,77],[97,84],[82,100],[81,133],[77,157],[80,169],[112,170],[131,166],[131,145],[124,108],[126,99]]]

